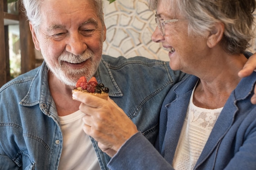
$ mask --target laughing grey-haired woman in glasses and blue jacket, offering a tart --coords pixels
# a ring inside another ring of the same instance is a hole
[[[164,101],[156,149],[124,113],[120,121],[110,111],[103,116],[103,110],[117,113],[114,106],[74,95],[85,103],[84,131],[115,154],[111,170],[255,169],[256,106],[250,98],[256,73],[238,77],[247,62],[255,7],[255,0],[150,1],[158,25],[153,41],[168,49],[173,70],[191,75]]]

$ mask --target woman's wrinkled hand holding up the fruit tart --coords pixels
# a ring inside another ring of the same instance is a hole
[[[72,97],[81,102],[79,109],[85,114],[84,132],[98,141],[98,146],[110,156],[138,132],[135,124],[112,99],[104,100],[82,92],[75,92]]]

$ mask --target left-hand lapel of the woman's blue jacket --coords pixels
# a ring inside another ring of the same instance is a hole
[[[183,82],[182,86],[176,86],[174,92],[168,96],[170,104],[166,105],[167,110],[167,125],[166,134],[164,137],[164,145],[162,148],[162,155],[168,161],[173,161],[177,143],[180,137],[180,132],[186,117],[186,110],[188,108],[189,99],[198,81],[198,77],[188,77],[189,81]],[[185,83],[185,84],[184,84]],[[160,129],[161,132],[161,129]]]

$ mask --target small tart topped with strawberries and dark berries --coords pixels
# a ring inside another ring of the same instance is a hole
[[[81,91],[83,93],[90,93],[91,95],[100,97],[102,99],[108,99],[109,89],[104,86],[104,84],[97,82],[95,77],[92,77],[88,82],[85,76],[82,76],[76,82],[76,87],[72,90]]]

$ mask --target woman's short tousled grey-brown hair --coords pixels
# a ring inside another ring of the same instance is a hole
[[[252,26],[255,0],[168,0],[170,12],[189,22],[188,32],[205,35],[212,31],[216,22],[225,26],[223,49],[230,54],[243,53],[254,38]],[[151,10],[157,9],[158,0],[149,0]],[[165,3],[166,0],[162,0]]]

